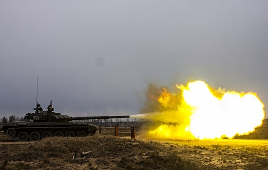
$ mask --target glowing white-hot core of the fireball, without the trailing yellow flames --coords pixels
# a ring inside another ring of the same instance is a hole
[[[195,137],[220,138],[249,134],[262,124],[264,104],[252,92],[224,92],[218,96],[202,81],[182,88],[186,103],[192,107],[189,131]]]

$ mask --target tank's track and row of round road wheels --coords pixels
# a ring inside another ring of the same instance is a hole
[[[52,136],[83,137],[95,132],[88,132],[88,126],[12,127],[6,135],[17,141],[37,141]]]

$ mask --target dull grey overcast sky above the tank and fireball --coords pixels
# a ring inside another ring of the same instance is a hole
[[[267,0],[0,0],[0,118],[137,114],[149,83],[268,106]],[[268,115],[268,114],[267,114]]]

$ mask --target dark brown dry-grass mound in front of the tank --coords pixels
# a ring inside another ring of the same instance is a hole
[[[200,163],[166,152],[153,141],[96,134],[66,138],[51,137],[37,142],[0,146],[2,170],[203,170]],[[83,151],[93,151],[80,157]],[[73,159],[73,157],[75,157]]]

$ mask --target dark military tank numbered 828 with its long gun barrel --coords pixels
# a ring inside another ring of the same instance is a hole
[[[52,101],[47,111],[43,111],[38,102],[34,110],[35,113],[27,113],[24,117],[27,121],[3,123],[0,125],[0,132],[18,141],[37,141],[51,136],[82,137],[94,135],[99,129],[98,126],[71,122],[72,120],[129,118],[129,116],[70,117],[53,112]]]

